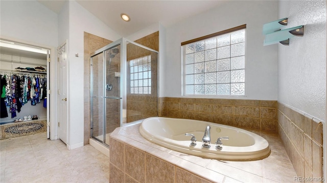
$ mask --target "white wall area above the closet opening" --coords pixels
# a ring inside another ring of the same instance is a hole
[[[0,1],[1,37],[56,47],[57,14],[37,1]]]

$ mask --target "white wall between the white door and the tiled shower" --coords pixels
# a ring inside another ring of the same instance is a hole
[[[84,141],[84,32],[108,40],[121,36],[75,1],[68,2],[68,144],[71,149],[83,146]],[[61,27],[59,27],[61,28]],[[64,27],[67,28],[67,27]],[[67,30],[62,30],[67,31]],[[61,38],[64,39],[64,38]],[[76,57],[75,54],[79,54]],[[82,111],[82,113],[81,113]],[[81,115],[82,114],[82,115]]]

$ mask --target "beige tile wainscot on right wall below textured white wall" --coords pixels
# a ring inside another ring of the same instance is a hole
[[[278,103],[278,133],[298,176],[323,176],[319,119]]]

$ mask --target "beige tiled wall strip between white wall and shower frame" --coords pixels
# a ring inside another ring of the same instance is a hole
[[[84,32],[84,145],[90,138],[90,53],[112,41]]]

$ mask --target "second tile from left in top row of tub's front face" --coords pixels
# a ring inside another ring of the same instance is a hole
[[[144,162],[145,153],[143,151],[132,146],[125,145],[125,173],[139,182],[145,182]]]

